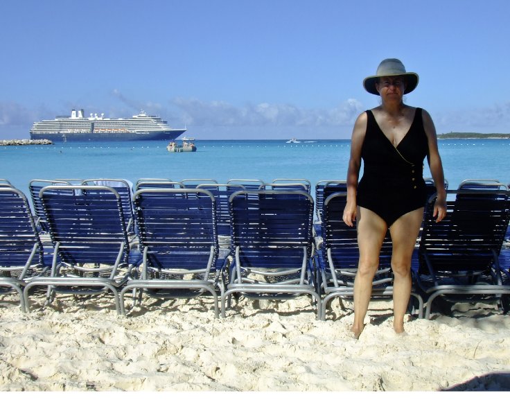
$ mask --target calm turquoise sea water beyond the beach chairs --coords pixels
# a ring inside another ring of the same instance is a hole
[[[53,146],[0,146],[0,177],[24,192],[32,179],[141,177],[171,180],[280,177],[344,180],[349,162],[348,140],[286,144],[284,141],[197,141],[196,153],[169,153],[161,141],[67,143]],[[496,179],[510,183],[510,140],[439,141],[450,189],[464,179]],[[425,177],[430,176],[425,163]]]

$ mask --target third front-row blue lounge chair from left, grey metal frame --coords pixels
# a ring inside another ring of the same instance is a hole
[[[143,271],[121,291],[123,313],[125,293],[143,289],[148,295],[170,298],[210,293],[218,317],[216,290],[223,290],[224,259],[219,257],[213,195],[204,189],[141,189],[133,202]]]

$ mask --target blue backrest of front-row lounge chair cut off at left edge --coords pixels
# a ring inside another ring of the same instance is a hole
[[[35,263],[42,263],[42,243],[23,192],[0,187],[0,268],[25,266],[34,245]]]

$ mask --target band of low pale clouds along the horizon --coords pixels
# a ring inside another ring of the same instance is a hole
[[[131,116],[145,110],[149,114],[161,116],[170,125],[206,129],[208,135],[225,135],[236,131],[243,137],[249,131],[253,135],[274,137],[282,135],[304,135],[310,132],[319,137],[348,138],[358,114],[364,110],[360,101],[350,98],[330,109],[312,109],[281,103],[246,103],[233,105],[225,101],[202,101],[197,98],[173,98],[168,103],[140,101],[133,99],[118,89],[112,91],[116,103],[98,104],[98,109],[110,117]],[[71,103],[66,103],[67,109]],[[119,105],[121,104],[121,105]],[[96,105],[89,105],[95,107]],[[102,108],[100,108],[103,106]],[[0,138],[5,136],[26,137],[34,121],[53,119],[58,114],[67,114],[61,105],[55,108],[45,106],[26,107],[21,103],[0,101]],[[94,112],[94,108],[87,111]],[[432,118],[437,132],[510,132],[510,101],[484,108],[464,110],[433,111]],[[62,113],[64,111],[64,113]],[[258,130],[257,130],[258,129]],[[258,131],[258,133],[255,133]],[[234,135],[234,133],[232,133]]]

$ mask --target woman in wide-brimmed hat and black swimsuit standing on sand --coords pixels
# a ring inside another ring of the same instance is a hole
[[[394,322],[404,333],[404,315],[411,294],[411,257],[426,202],[423,160],[428,159],[437,189],[434,216],[446,215],[443,166],[434,123],[425,110],[403,102],[404,94],[418,85],[418,74],[406,72],[394,58],[379,64],[375,76],[364,79],[367,92],[379,95],[381,104],[358,116],[351,139],[347,171],[344,222],[356,220],[360,262],[354,281],[354,323],[358,339],[364,328],[372,280],[387,229],[392,237]],[[363,177],[358,184],[361,159]]]

